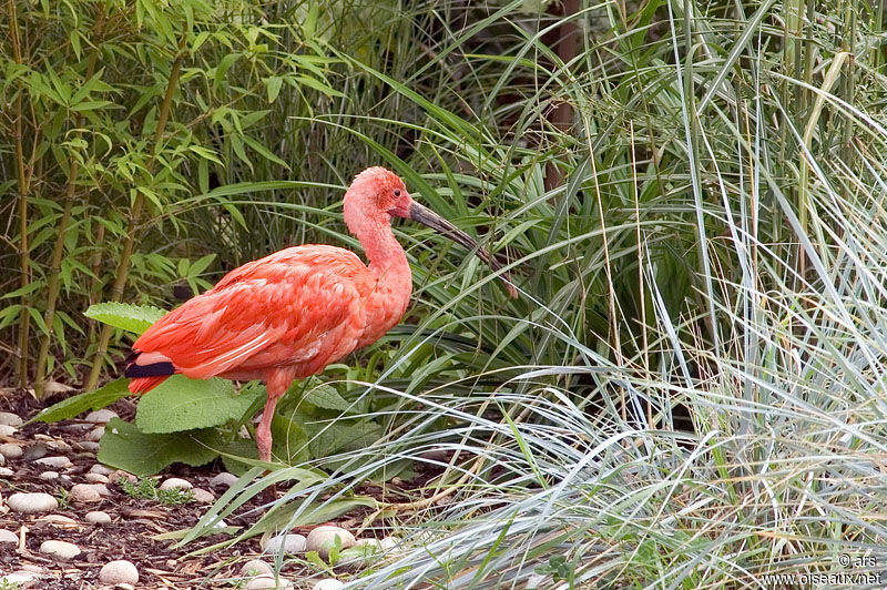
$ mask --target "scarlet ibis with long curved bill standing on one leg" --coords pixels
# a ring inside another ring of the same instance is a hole
[[[192,379],[264,380],[268,397],[256,446],[259,459],[268,461],[274,408],[293,380],[376,342],[404,316],[412,274],[391,231],[394,217],[427,225],[475,250],[495,271],[501,268],[471,236],[416,203],[404,181],[384,167],[358,174],[343,208],[368,266],[347,250],[309,244],[235,268],[135,340],[124,370],[132,378],[130,391],[143,394],[176,373]]]

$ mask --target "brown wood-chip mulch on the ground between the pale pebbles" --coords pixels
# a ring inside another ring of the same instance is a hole
[[[48,404],[38,404],[28,395],[0,395],[0,411],[12,411],[24,419],[33,416],[45,405]],[[111,406],[111,409],[124,419],[132,419],[134,407],[131,400],[124,399]],[[63,490],[70,489],[74,484],[88,482],[84,477],[98,461],[93,452],[78,449],[78,442],[93,426],[78,419],[50,425],[38,423],[19,428],[14,437],[0,436],[0,444],[16,442],[23,449],[42,442],[49,448],[47,456],[64,455],[74,464],[72,468],[59,470],[62,477],[44,480],[40,478],[40,474],[47,470],[45,467],[26,460],[24,457],[8,459],[6,467],[12,469],[14,475],[11,478],[0,478],[0,494],[3,498],[17,491],[42,491],[60,498],[64,497]],[[224,489],[213,489],[210,479],[223,470],[221,461],[198,468],[176,464],[162,476],[181,477],[191,481],[194,487],[211,490],[218,497]],[[422,475],[425,476],[422,479],[426,480],[431,477],[430,472]],[[104,497],[100,502],[71,502],[68,506],[63,502],[58,510],[40,515],[16,513],[0,502],[0,528],[19,535],[20,541],[23,539],[23,545],[20,542],[14,549],[11,543],[0,546],[0,577],[26,569],[41,573],[38,582],[31,582],[26,588],[53,590],[108,588],[99,582],[99,570],[111,560],[126,559],[139,570],[140,581],[136,588],[179,590],[235,588],[233,582],[239,577],[242,564],[248,559],[261,557],[258,538],[216,549],[205,556],[188,555],[191,551],[228,539],[224,535],[204,537],[185,548],[174,549],[172,547],[174,541],[160,540],[156,538],[157,535],[193,527],[207,509],[206,505],[192,502],[164,506],[152,500],[134,499],[125,495],[115,484],[106,486],[111,496]],[[381,488],[371,485],[359,491],[377,497],[384,492]],[[388,492],[391,491],[389,487]],[[390,496],[388,499],[391,499]],[[259,499],[247,502],[237,512],[226,517],[226,523],[248,527],[259,517],[256,510],[258,503]],[[86,522],[83,517],[91,510],[108,512],[112,521],[103,525]],[[365,513],[365,509],[355,510],[344,516],[344,521],[340,520],[338,525],[354,530],[360,525]],[[63,528],[49,522],[47,515],[63,515],[75,520],[77,525]],[[307,535],[308,529],[295,529],[294,532]],[[381,537],[386,529],[381,527],[374,532]],[[365,532],[365,536],[370,533]],[[72,542],[82,552],[70,561],[59,561],[40,553],[40,545],[50,539]],[[297,581],[299,577],[304,578],[313,572],[302,564],[284,562],[281,573]],[[309,586],[312,582],[306,580],[305,583]]]

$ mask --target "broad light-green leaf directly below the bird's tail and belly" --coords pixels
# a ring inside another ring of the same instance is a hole
[[[173,375],[142,396],[135,424],[145,434],[177,433],[237,420],[264,395],[261,388],[234,393],[227,379]]]

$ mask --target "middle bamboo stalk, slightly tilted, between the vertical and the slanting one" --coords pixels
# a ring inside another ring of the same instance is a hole
[[[90,53],[90,61],[86,64],[85,80],[89,81],[95,74],[95,62],[99,59],[99,39],[102,27],[104,24],[104,11],[99,8],[99,17],[95,19],[93,26],[93,37],[95,43],[92,52]],[[80,129],[83,125],[83,115],[79,114],[75,118],[74,126]],[[64,192],[64,211],[59,221],[58,234],[55,236],[55,244],[52,247],[52,262],[48,273],[49,282],[47,284],[47,311],[43,316],[43,322],[47,325],[48,333],[40,338],[40,352],[37,355],[37,368],[34,374],[34,397],[38,399],[43,398],[43,390],[47,378],[47,362],[49,359],[49,347],[52,344],[52,337],[55,334],[53,325],[55,323],[55,306],[59,302],[59,272],[62,264],[62,255],[64,254],[64,234],[68,231],[68,224],[71,222],[71,211],[74,206],[74,193],[77,192],[77,179],[80,171],[80,161],[74,156],[73,152],[68,165],[68,185]]]

